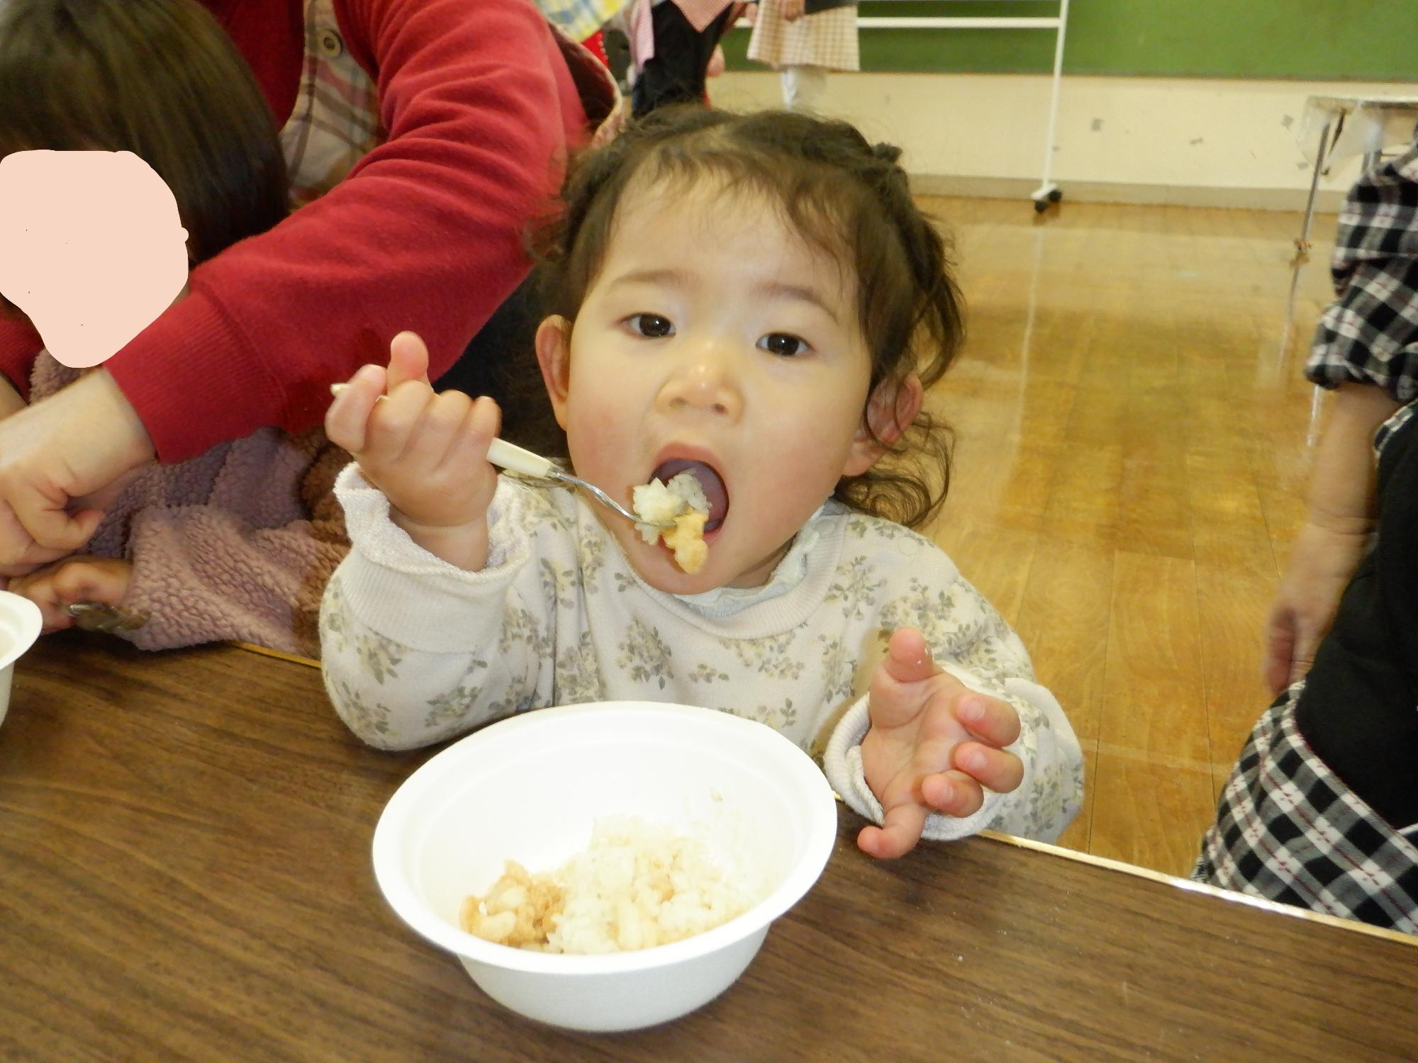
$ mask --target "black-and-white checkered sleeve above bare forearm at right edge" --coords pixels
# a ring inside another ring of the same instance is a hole
[[[1356,181],[1330,261],[1339,296],[1320,317],[1305,376],[1418,395],[1418,146]]]

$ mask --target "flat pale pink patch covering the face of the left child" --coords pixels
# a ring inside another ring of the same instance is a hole
[[[98,366],[187,282],[172,190],[132,152],[0,159],[0,292],[71,369]]]

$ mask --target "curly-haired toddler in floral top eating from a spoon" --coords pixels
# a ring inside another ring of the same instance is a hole
[[[699,482],[693,574],[621,516],[498,476],[496,405],[434,394],[415,336],[354,374],[326,415],[357,463],[320,638],[356,734],[408,748],[542,706],[683,702],[821,754],[881,823],[873,856],[1058,836],[1078,740],[1008,625],[903,526],[944,496],[922,397],[961,319],[898,154],[845,123],[679,108],[573,166],[542,376],[579,476],[625,502]]]

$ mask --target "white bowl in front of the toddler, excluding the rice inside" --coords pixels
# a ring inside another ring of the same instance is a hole
[[[608,955],[530,952],[458,928],[464,897],[484,893],[505,860],[559,867],[607,815],[703,838],[726,873],[761,876],[752,884],[763,900],[703,934]],[[529,712],[432,757],[379,819],[374,874],[394,911],[495,1001],[554,1026],[630,1030],[727,989],[769,923],[817,882],[835,838],[832,788],[770,727],[710,709],[598,702]]]

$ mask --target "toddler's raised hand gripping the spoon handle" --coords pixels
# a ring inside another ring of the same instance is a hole
[[[384,394],[389,400],[380,403]],[[364,366],[330,403],[325,431],[354,456],[364,479],[384,492],[394,523],[444,554],[432,543],[485,537],[498,486],[488,445],[501,417],[491,398],[435,394],[428,383],[428,347],[415,333],[401,332],[389,344],[389,369]]]

